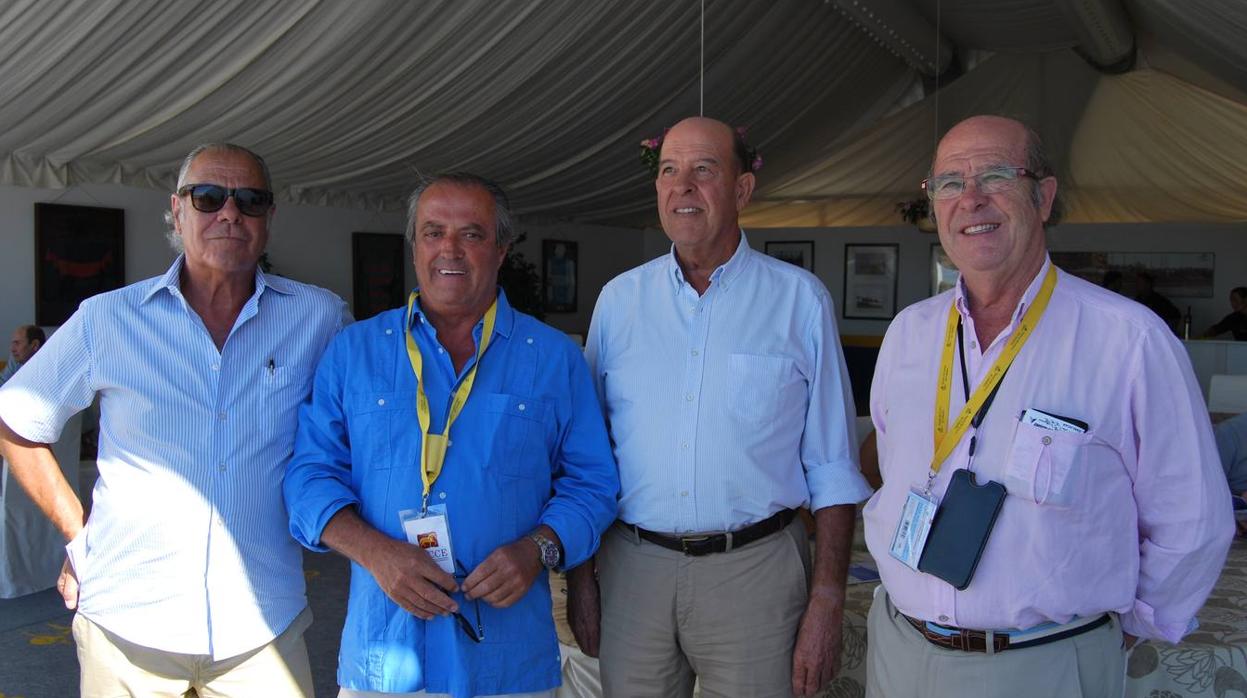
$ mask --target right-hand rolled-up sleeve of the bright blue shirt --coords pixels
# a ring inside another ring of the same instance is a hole
[[[570,400],[554,457],[554,496],[541,522],[559,535],[564,566],[575,567],[596,552],[615,520],[620,484],[589,366],[574,348],[566,361]]]

